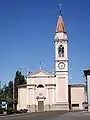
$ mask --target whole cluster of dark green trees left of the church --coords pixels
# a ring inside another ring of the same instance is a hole
[[[14,84],[13,81],[9,81],[8,85],[5,84],[0,89],[0,104],[2,101],[5,101],[8,104],[8,109],[13,109],[13,104],[15,109],[17,109],[18,85],[22,85],[22,84],[26,84],[25,77],[24,75],[21,74],[20,71],[16,71]],[[13,90],[14,90],[14,99],[13,99]]]

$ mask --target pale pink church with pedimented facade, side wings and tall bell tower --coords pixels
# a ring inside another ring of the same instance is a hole
[[[18,86],[17,109],[29,112],[84,109],[84,85],[68,85],[68,36],[62,13],[55,31],[55,72],[42,67],[27,73],[27,84]]]

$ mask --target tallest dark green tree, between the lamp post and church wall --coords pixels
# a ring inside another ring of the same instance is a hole
[[[17,109],[18,103],[18,85],[26,84],[26,80],[24,75],[21,74],[20,71],[16,71],[15,79],[14,79],[14,100],[15,100],[15,109]]]

